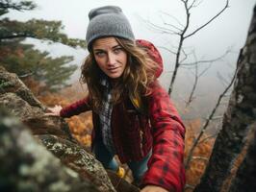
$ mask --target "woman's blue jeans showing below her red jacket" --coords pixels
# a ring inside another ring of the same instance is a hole
[[[109,152],[102,141],[95,141],[92,152],[96,156],[96,159],[103,164],[105,169],[111,169],[115,172],[117,171],[119,166],[115,161],[115,155]],[[132,170],[135,182],[141,182],[144,173],[147,171],[147,161],[151,155],[152,151],[140,161],[131,161],[127,163],[128,167]]]

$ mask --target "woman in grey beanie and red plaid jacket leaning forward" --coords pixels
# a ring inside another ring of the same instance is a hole
[[[91,149],[105,168],[118,171],[114,156],[127,163],[142,192],[182,191],[185,127],[158,83],[162,59],[147,41],[135,41],[121,9],[89,13],[90,55],[81,80],[89,96],[69,107],[49,108],[70,117],[92,110]]]

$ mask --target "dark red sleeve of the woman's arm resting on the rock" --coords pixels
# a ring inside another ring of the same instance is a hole
[[[87,110],[90,110],[89,97],[81,99],[81,100],[63,108],[60,112],[60,115],[62,117],[71,117],[73,115],[80,114]]]

